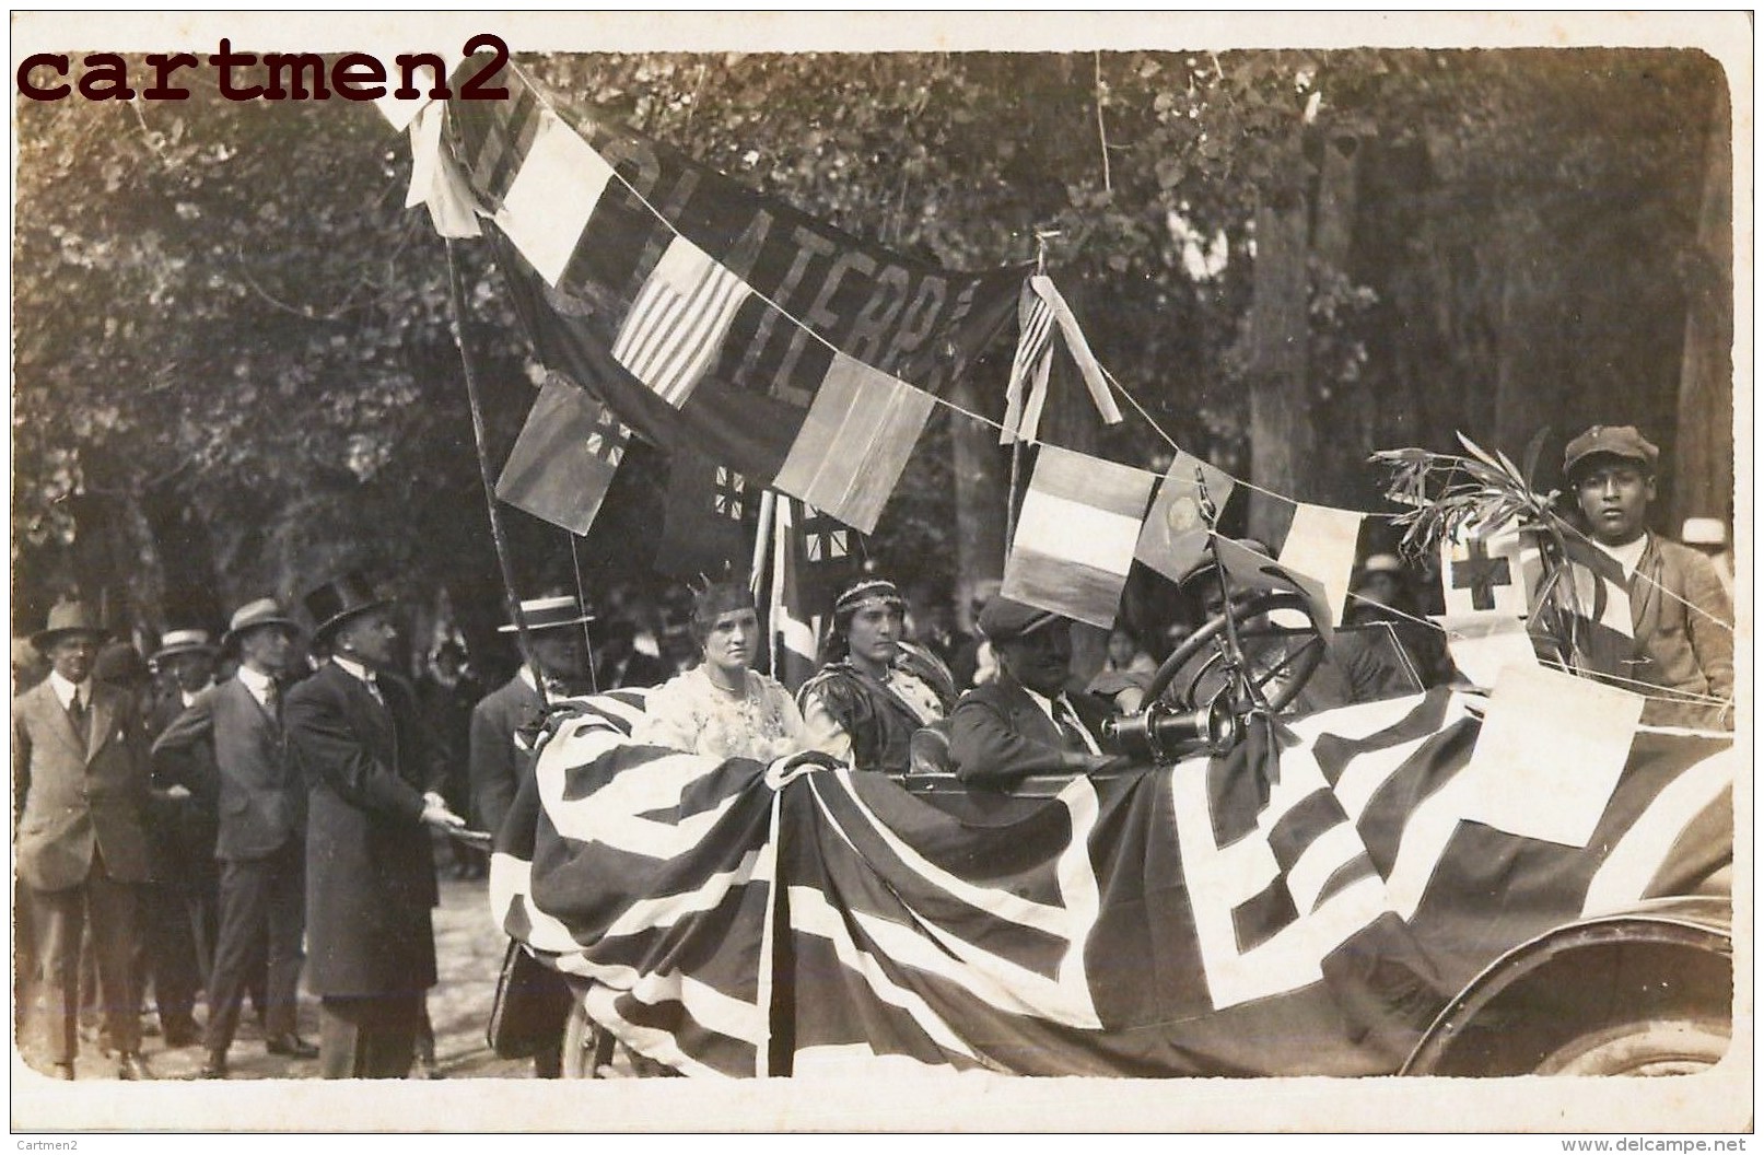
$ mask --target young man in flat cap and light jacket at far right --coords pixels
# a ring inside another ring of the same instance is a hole
[[[1588,658],[1649,695],[1646,723],[1732,728],[1732,601],[1706,555],[1648,529],[1658,462],[1633,425],[1595,425],[1563,455],[1591,545],[1621,568],[1633,626],[1633,638],[1600,631]]]

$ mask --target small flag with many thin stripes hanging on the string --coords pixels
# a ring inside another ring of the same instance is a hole
[[[748,298],[746,282],[676,236],[632,303],[612,356],[676,409],[686,404]]]

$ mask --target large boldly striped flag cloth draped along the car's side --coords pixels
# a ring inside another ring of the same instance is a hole
[[[1637,735],[1552,801],[1589,827],[1563,841],[1484,822],[1528,786],[1469,769],[1484,723],[1446,689],[983,816],[644,746],[640,709],[554,714],[490,906],[688,1074],[1390,1074],[1508,949],[1732,861],[1730,741]]]

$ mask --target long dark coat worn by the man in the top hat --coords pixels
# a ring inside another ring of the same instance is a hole
[[[288,691],[282,721],[307,783],[307,986],[321,998],[436,982],[434,848],[423,792],[441,764],[409,682],[385,705],[335,663]]]

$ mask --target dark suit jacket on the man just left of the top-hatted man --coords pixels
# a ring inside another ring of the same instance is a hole
[[[205,764],[217,778],[213,857],[228,862],[266,859],[305,838],[307,785],[288,751],[288,739],[236,677],[199,693],[153,741],[157,779],[183,781],[196,790],[191,778]]]

